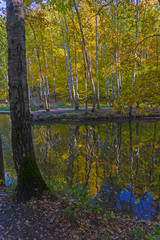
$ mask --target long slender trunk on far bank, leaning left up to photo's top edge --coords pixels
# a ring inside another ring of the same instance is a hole
[[[92,108],[92,111],[95,111],[95,105],[96,105],[95,85],[94,85],[94,81],[93,81],[93,78],[92,78],[91,66],[90,66],[90,62],[89,62],[89,59],[88,59],[88,54],[87,54],[87,49],[86,49],[86,42],[85,42],[85,38],[84,38],[84,34],[83,34],[83,29],[82,29],[82,24],[81,24],[79,11],[78,11],[77,4],[76,4],[75,0],[73,0],[73,3],[74,3],[75,10],[76,10],[76,13],[77,13],[77,18],[78,18],[78,22],[79,22],[81,37],[82,37],[82,43],[83,43],[85,57],[86,57],[86,62],[87,62],[87,67],[88,67],[88,73],[89,73],[89,77],[90,77],[90,80],[91,80],[91,86],[92,86],[92,90],[93,90],[93,108]]]

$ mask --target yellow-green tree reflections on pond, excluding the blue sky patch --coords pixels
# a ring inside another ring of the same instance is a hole
[[[156,125],[145,122],[108,122],[92,126],[56,124],[48,126],[48,130],[46,126],[36,126],[36,154],[40,156],[41,169],[46,168],[44,172],[51,175],[52,181],[65,181],[70,186],[85,184],[96,194],[105,179],[110,179],[111,185],[119,191],[132,184],[134,194],[142,196],[149,190],[157,197],[159,129],[159,122]],[[44,134],[46,131],[50,133]]]

